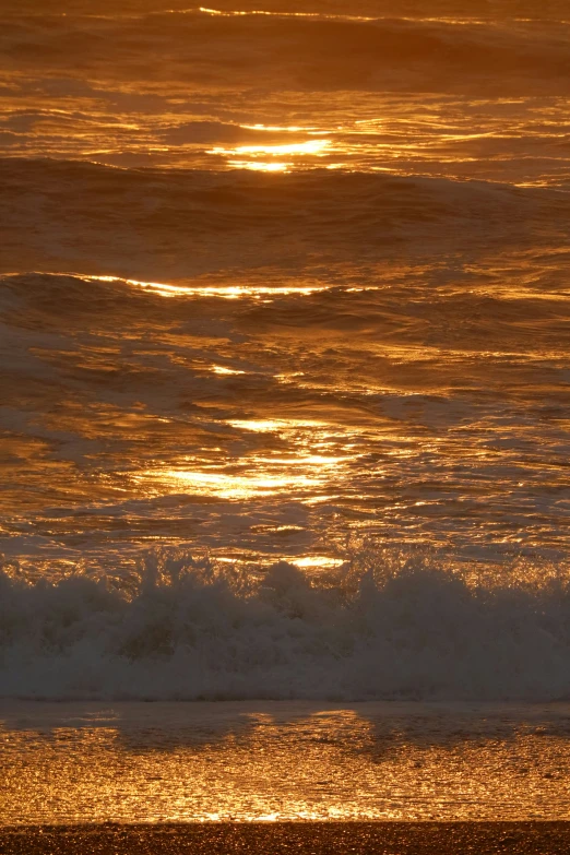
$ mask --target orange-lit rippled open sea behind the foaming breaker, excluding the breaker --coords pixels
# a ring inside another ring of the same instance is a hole
[[[158,541],[173,495],[566,543],[561,20],[9,4],[8,548]]]

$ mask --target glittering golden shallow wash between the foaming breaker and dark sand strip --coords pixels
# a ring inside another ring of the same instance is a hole
[[[21,702],[0,721],[2,819],[568,820],[568,704]]]

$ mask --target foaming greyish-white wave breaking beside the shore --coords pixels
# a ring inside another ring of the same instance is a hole
[[[381,556],[313,584],[147,558],[130,589],[0,575],[0,691],[43,699],[446,699],[570,694],[570,586],[471,587]]]

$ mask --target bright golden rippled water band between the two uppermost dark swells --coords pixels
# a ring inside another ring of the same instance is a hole
[[[257,14],[206,9],[203,13]],[[287,61],[294,63],[294,57]],[[236,73],[239,81],[240,70]],[[17,81],[16,74],[13,85]],[[51,94],[46,100],[32,80],[23,79],[21,84],[19,110],[11,95],[0,93],[0,114],[14,121],[14,130],[0,140],[3,156],[63,157],[121,170],[139,166],[264,173],[344,168],[520,187],[568,186],[570,177],[563,144],[567,93],[401,95],[368,91],[367,84],[365,91],[340,90],[330,97],[302,88],[282,92],[274,99],[263,95],[262,87],[242,93],[238,111],[229,95],[219,115],[214,111],[204,135],[199,127],[202,114],[192,108],[183,90],[169,93],[166,83],[157,84],[156,110],[142,112],[136,99],[124,109],[122,98],[120,106],[115,100],[106,105],[104,96],[95,103],[87,100],[87,94]],[[136,92],[136,85],[129,91]],[[22,124],[17,117],[24,115],[34,121]],[[229,136],[226,128],[231,129]]]

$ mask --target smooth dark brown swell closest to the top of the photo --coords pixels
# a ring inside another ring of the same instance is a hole
[[[504,94],[570,76],[559,22],[348,20],[218,15],[9,17],[0,45],[20,70],[99,79],[193,82],[273,90],[454,90]],[[155,61],[147,61],[155,57]],[[340,61],[342,58],[342,61]]]

